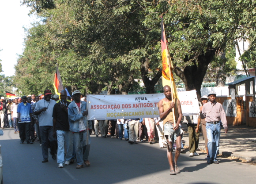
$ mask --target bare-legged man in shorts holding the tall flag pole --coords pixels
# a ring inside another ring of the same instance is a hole
[[[163,90],[166,97],[158,102],[159,115],[163,120],[164,135],[168,143],[167,158],[170,165],[170,175],[175,175],[176,173],[180,173],[180,169],[177,166],[177,160],[181,153],[181,130],[179,126],[182,118],[181,103],[178,99],[173,99],[172,101],[172,92],[169,86],[166,85]],[[176,119],[175,126],[173,126],[173,111]],[[173,166],[172,147],[175,141],[177,148],[175,151]]]

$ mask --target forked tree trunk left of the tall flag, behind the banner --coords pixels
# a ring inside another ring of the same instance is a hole
[[[140,66],[140,74],[141,74],[141,78],[142,78],[143,83],[144,83],[145,88],[146,88],[146,93],[147,94],[155,93],[154,86],[158,82],[160,77],[162,76],[162,70],[159,70],[157,72],[157,74],[154,76],[154,78],[151,80],[148,77],[148,74],[149,74],[149,59],[145,58],[145,60],[142,62],[141,66]]]

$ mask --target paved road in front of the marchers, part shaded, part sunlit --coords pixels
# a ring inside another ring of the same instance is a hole
[[[158,144],[128,144],[128,141],[92,136],[90,167],[76,164],[59,169],[56,160],[42,163],[39,142],[20,144],[13,129],[0,137],[4,184],[239,184],[256,183],[256,166],[221,159],[208,165],[205,154],[181,154],[181,173],[169,175],[166,149]]]

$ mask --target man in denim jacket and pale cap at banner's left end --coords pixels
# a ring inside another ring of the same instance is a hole
[[[92,124],[87,121],[86,102],[80,100],[79,90],[73,92],[73,99],[68,105],[69,130],[73,133],[73,140],[76,148],[77,169],[83,168],[83,161],[86,166],[90,166],[88,160],[90,152],[90,133]]]

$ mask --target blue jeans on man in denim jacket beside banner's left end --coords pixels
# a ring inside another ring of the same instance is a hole
[[[75,132],[73,133],[73,139],[75,143],[76,149],[76,163],[78,165],[83,165],[83,160],[87,161],[89,152],[90,152],[90,134],[88,139],[88,145],[86,145],[87,139],[87,130],[83,132]]]

